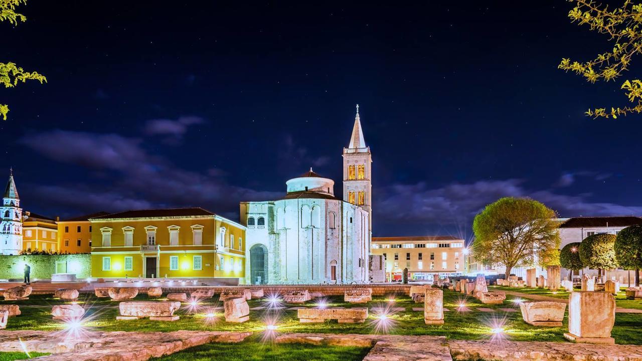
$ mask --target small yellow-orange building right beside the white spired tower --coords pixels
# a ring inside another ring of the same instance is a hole
[[[58,227],[52,218],[26,211],[22,218],[22,250],[58,251]]]

